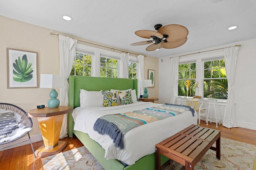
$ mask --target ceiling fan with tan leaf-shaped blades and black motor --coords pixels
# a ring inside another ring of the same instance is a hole
[[[157,32],[151,30],[138,30],[135,32],[139,37],[147,39],[152,38],[153,40],[131,43],[130,45],[135,46],[153,43],[146,47],[146,51],[154,51],[162,47],[167,49],[177,48],[188,40],[188,29],[184,26],[170,24],[162,27],[162,24],[156,24],[154,28]]]

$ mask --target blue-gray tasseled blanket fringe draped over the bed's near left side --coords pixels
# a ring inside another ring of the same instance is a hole
[[[124,149],[124,134],[114,123],[98,118],[94,123],[93,130],[102,135],[107,134],[113,139],[116,147]]]

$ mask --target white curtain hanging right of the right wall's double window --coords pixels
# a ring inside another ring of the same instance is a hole
[[[227,128],[238,127],[236,125],[234,80],[236,73],[236,59],[239,47],[233,46],[224,49],[224,60],[228,79],[228,99],[222,125]]]

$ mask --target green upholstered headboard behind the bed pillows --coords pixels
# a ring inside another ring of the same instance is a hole
[[[72,108],[80,106],[80,89],[85,89],[87,91],[135,89],[136,94],[138,94],[137,79],[70,75],[68,84],[68,106]],[[71,113],[68,113],[68,136],[73,136],[73,117]]]

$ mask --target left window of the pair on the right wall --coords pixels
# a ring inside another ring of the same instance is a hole
[[[179,64],[178,96],[194,96],[196,63]]]

